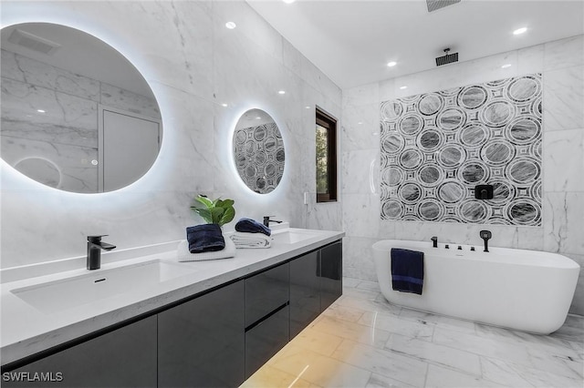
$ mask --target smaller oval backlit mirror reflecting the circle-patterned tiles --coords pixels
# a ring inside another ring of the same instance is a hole
[[[284,141],[274,118],[261,109],[246,111],[234,133],[234,159],[245,185],[266,194],[280,183],[284,174]]]

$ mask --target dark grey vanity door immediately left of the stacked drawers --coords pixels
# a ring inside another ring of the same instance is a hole
[[[234,387],[245,380],[244,281],[158,314],[160,387]]]

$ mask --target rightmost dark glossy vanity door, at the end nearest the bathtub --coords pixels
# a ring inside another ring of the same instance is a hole
[[[325,311],[343,293],[342,242],[333,242],[319,252],[320,311]]]

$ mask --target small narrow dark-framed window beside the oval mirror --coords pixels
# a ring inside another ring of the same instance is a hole
[[[337,120],[317,108],[317,202],[337,200]]]

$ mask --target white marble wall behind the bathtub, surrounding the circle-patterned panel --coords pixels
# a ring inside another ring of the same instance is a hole
[[[381,101],[534,73],[543,82],[541,226],[381,220]],[[494,246],[558,252],[584,265],[584,36],[403,77],[388,74],[385,81],[343,90],[342,112],[346,276],[376,280],[370,246],[377,240],[437,235],[477,244],[482,229],[493,232]],[[584,314],[583,272],[570,309],[578,314]]]

